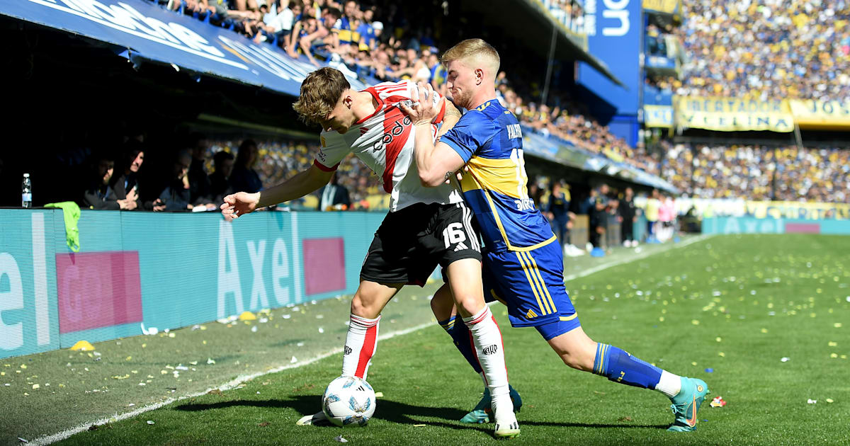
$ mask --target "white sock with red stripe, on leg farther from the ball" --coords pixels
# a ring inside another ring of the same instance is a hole
[[[487,306],[472,317],[463,318],[463,323],[469,327],[469,333],[473,336],[475,354],[484,370],[484,383],[490,388],[491,407],[496,421],[510,424],[515,420],[512,420],[513,403],[507,387],[507,366],[499,325]]]

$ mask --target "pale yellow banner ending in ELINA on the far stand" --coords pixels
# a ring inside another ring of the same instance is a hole
[[[717,132],[741,130],[791,132],[794,117],[788,101],[677,96],[678,126]]]

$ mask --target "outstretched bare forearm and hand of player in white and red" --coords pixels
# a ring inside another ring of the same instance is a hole
[[[331,180],[331,175],[333,175],[333,169],[320,169],[314,164],[309,169],[298,172],[294,177],[269,189],[254,194],[237,192],[227,195],[224,197],[224,204],[221,205],[221,213],[224,218],[232,220],[260,207],[301,198],[327,184]]]

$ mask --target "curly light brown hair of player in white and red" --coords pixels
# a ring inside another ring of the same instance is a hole
[[[351,84],[343,72],[329,66],[313,71],[301,82],[301,95],[292,109],[305,123],[320,124],[337,106]]]

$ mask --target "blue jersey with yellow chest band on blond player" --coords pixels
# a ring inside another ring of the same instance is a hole
[[[478,218],[488,251],[530,251],[555,240],[529,198],[519,121],[491,99],[469,110],[440,141],[463,161],[463,198]]]

